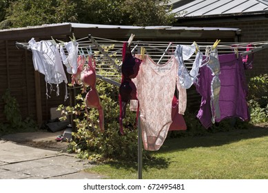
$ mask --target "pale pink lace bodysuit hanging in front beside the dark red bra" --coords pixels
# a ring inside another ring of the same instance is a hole
[[[178,63],[172,56],[163,65],[156,64],[149,56],[136,77],[138,101],[141,107],[141,129],[145,150],[161,148],[172,124],[172,99],[176,88]]]

